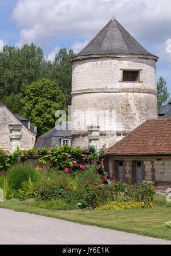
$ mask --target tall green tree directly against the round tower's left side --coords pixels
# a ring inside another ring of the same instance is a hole
[[[51,79],[55,80],[62,90],[66,99],[66,106],[71,105],[72,66],[70,58],[74,55],[73,50],[67,52],[67,49],[63,48],[55,54],[55,60],[53,62],[54,72]]]

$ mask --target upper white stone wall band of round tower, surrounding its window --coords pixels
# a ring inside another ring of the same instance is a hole
[[[119,82],[122,69],[142,69],[140,81]],[[156,61],[151,58],[88,58],[72,62],[72,92],[87,89],[153,89],[156,90]]]

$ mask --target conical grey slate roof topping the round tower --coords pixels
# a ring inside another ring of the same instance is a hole
[[[145,50],[115,18],[112,18],[107,25],[101,29],[96,37],[93,38],[80,53],[76,54],[76,56],[92,54],[133,54],[154,56],[152,53]]]

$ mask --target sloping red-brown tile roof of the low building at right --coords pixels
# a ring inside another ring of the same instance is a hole
[[[105,151],[106,155],[171,155],[171,119],[149,119]]]

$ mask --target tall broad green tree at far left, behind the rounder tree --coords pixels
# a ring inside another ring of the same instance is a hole
[[[50,61],[44,59],[43,50],[34,44],[23,45],[21,49],[5,46],[0,54],[0,101],[11,111],[21,113],[21,99],[27,85],[48,77],[52,69]],[[9,97],[9,99],[7,99]],[[10,103],[13,98],[14,107]]]

